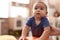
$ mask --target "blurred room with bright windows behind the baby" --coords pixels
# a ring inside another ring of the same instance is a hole
[[[46,3],[50,24],[60,28],[60,0],[0,0],[0,35],[13,35],[18,39],[36,1]],[[29,31],[28,36],[31,35]],[[52,38],[60,40],[59,36]]]

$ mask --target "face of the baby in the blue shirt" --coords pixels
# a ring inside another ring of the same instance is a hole
[[[47,7],[43,3],[37,3],[34,8],[34,16],[42,18],[47,15]]]

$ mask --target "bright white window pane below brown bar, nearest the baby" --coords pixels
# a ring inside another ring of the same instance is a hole
[[[29,11],[26,7],[11,7],[11,17],[17,17],[21,15],[22,17],[28,17]]]

